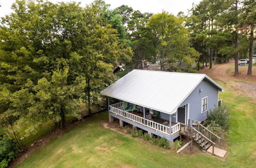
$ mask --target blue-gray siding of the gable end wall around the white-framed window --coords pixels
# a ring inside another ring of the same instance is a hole
[[[202,92],[199,92],[202,89]],[[181,103],[180,106],[189,103],[189,119],[204,121],[207,118],[207,111],[201,114],[202,98],[208,97],[207,110],[213,109],[218,105],[218,89],[212,86],[208,81],[201,81],[193,92]]]

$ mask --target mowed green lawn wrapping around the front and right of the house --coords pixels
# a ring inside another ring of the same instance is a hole
[[[256,164],[256,105],[226,91],[220,94],[230,110],[228,154],[176,154],[104,128],[106,113],[51,139],[18,167],[253,167]]]

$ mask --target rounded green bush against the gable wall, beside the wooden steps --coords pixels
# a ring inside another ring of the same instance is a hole
[[[208,126],[211,123],[218,124],[222,128],[226,128],[229,114],[225,106],[215,107],[213,110],[210,110],[207,114],[208,120],[204,123],[205,126]]]

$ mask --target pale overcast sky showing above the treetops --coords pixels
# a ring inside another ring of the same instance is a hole
[[[94,0],[48,0],[53,3],[57,2],[81,2],[81,6],[92,3]],[[187,9],[191,9],[192,4],[198,4],[201,0],[105,0],[106,4],[110,4],[114,9],[121,5],[127,5],[134,10],[141,12],[161,13],[163,10],[175,15],[183,11],[187,14]],[[15,0],[0,0],[0,17],[8,15],[12,12],[11,5]]]

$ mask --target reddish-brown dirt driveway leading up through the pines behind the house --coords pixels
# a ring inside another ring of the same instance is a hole
[[[215,80],[225,83],[238,96],[247,96],[256,102],[256,66],[252,66],[252,75],[247,75],[248,65],[239,66],[239,74],[234,75],[234,61],[226,64],[214,65],[212,69],[204,68],[200,73],[205,73]]]

